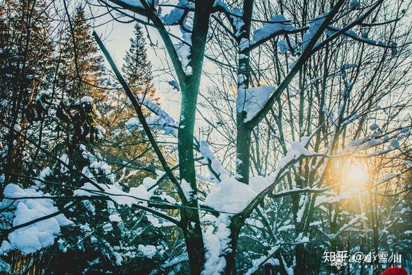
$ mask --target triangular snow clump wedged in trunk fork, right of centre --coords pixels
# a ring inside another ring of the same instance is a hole
[[[238,113],[246,112],[244,122],[252,120],[259,113],[274,91],[275,87],[267,85],[248,89],[240,87],[238,99],[236,100],[236,109]]]

